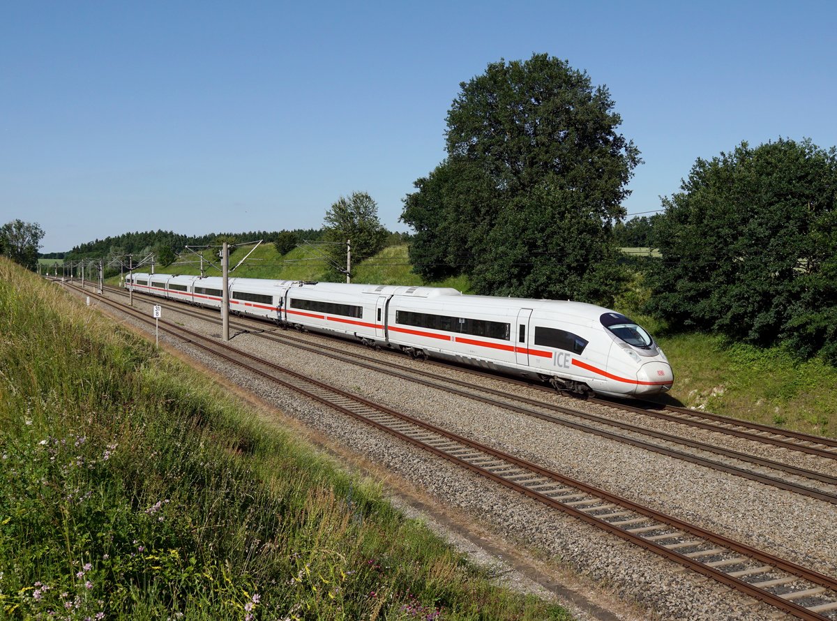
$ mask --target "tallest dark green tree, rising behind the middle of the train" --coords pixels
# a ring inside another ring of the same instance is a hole
[[[415,269],[465,272],[481,293],[611,300],[612,226],[640,160],[607,88],[547,54],[460,88],[448,157],[404,200]]]

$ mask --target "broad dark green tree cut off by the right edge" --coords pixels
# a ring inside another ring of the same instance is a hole
[[[837,360],[837,151],[779,140],[698,159],[655,223],[650,310]]]

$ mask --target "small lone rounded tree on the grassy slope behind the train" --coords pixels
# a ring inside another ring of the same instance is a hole
[[[387,229],[377,217],[377,203],[367,192],[352,192],[340,197],[326,212],[323,238],[334,244],[331,253],[336,264],[346,263],[347,240],[352,242],[352,262],[357,262],[383,248]]]

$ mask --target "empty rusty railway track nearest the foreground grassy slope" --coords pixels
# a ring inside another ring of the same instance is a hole
[[[149,326],[145,314],[104,296],[103,303]],[[160,321],[162,331],[225,362],[290,388],[347,416],[380,429],[545,506],[678,562],[741,593],[803,619],[837,618],[837,579],[757,548],[654,511],[631,500],[485,444],[440,429],[406,413],[330,387],[311,377],[224,345],[212,337]]]

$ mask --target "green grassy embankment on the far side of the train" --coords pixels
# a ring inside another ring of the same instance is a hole
[[[244,252],[237,250],[231,264],[237,263]],[[301,249],[281,257],[272,244],[266,244],[253,256],[260,260],[242,265],[236,274],[321,280],[326,272],[323,262],[307,260],[310,254]],[[198,269],[187,271],[182,266],[171,266],[166,271],[199,272]],[[357,264],[352,281],[423,284],[410,270],[406,246],[384,249],[382,254]],[[465,278],[428,284],[470,292],[470,284]],[[620,299],[616,310],[647,326],[660,341],[675,369],[671,398],[688,407],[704,408],[726,416],[837,437],[837,369],[817,359],[799,361],[782,348],[730,344],[719,336],[700,333],[677,334],[657,321],[636,314],[637,301],[647,295],[641,290],[641,281],[636,286],[637,290]]]

